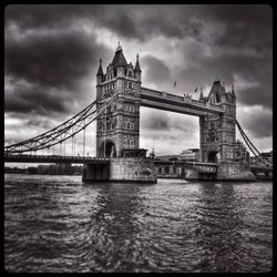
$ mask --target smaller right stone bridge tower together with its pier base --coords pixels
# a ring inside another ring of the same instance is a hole
[[[217,163],[217,179],[255,179],[250,172],[249,153],[236,141],[236,95],[234,86],[226,92],[220,81],[215,81],[209,94],[199,101],[222,106],[222,115],[199,117],[202,162]]]

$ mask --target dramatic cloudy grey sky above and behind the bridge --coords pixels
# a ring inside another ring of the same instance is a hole
[[[127,62],[140,54],[143,86],[183,94],[202,85],[207,95],[216,75],[226,89],[234,83],[240,125],[260,151],[273,148],[273,12],[254,4],[9,6],[6,144],[45,132],[94,101],[99,59],[105,69],[117,41]],[[94,131],[88,131],[91,154]],[[178,154],[199,146],[198,132],[198,117],[141,109],[141,147]]]

